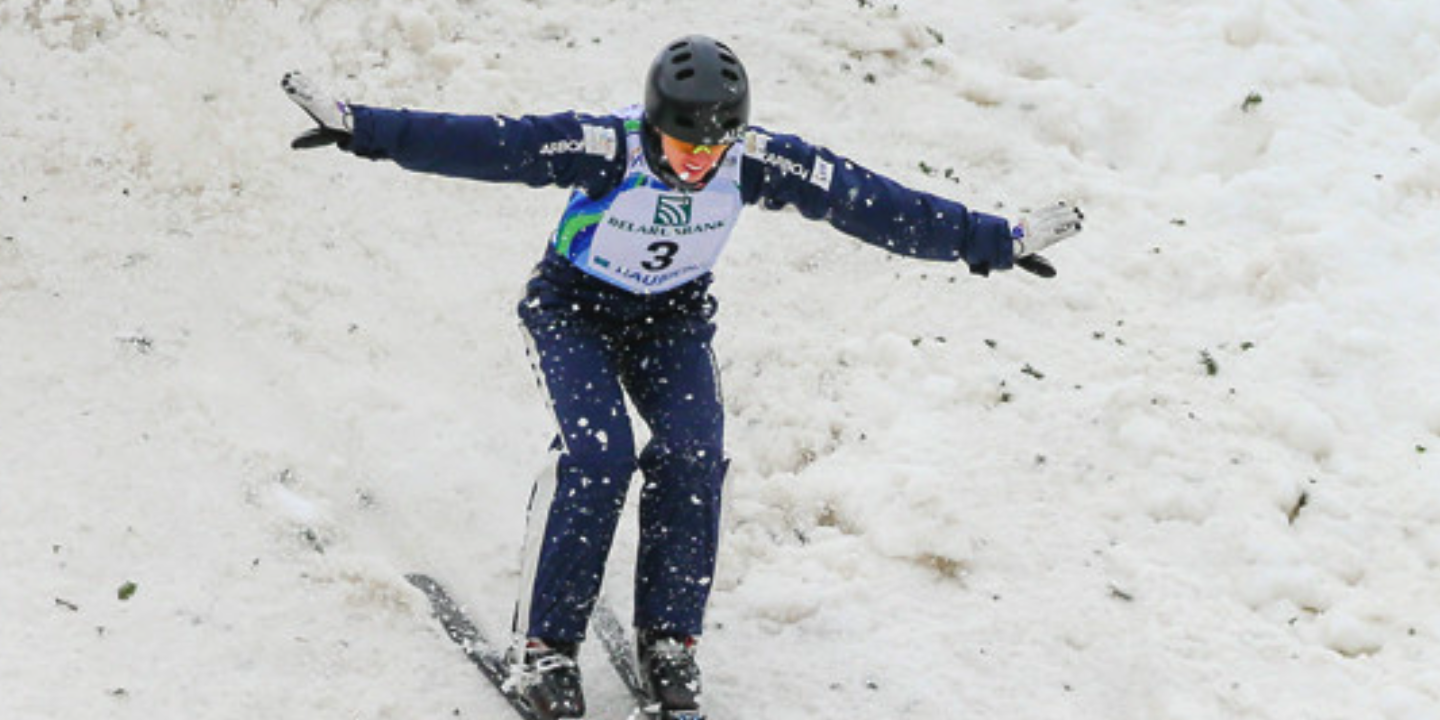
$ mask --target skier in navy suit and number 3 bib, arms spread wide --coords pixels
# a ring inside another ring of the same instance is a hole
[[[518,314],[559,423],[536,481],[510,652],[514,688],[544,717],[580,717],[579,644],[631,475],[639,469],[635,636],[661,714],[698,707],[696,639],[726,475],[711,338],[711,269],[746,204],[796,207],[890,252],[1020,265],[1080,230],[1064,203],[1011,226],[916,192],[799,137],[750,124],[744,66],[690,36],[654,59],[644,105],[606,115],[504,118],[346,104],[300,73],[285,92],[318,124],[297,148],[338,144],[423,173],[573,187]],[[626,395],[651,429],[636,454]]]

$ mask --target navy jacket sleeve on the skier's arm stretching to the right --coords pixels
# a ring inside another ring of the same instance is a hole
[[[746,203],[795,206],[805,217],[899,255],[963,261],[976,275],[1009,269],[1015,261],[1004,217],[912,190],[795,135],[750,130],[740,192]]]

